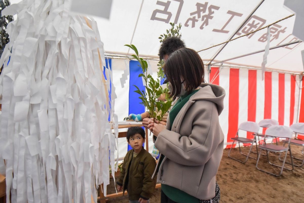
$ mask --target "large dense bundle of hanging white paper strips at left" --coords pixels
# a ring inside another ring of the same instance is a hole
[[[103,183],[106,194],[109,171],[117,170],[112,71],[106,80],[97,23],[70,14],[70,6],[25,0],[2,11],[17,14],[0,59],[7,202],[10,194],[18,203],[97,202],[96,187]]]

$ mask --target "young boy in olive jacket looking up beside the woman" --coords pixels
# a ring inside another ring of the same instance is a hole
[[[156,166],[154,158],[143,149],[145,131],[141,127],[131,127],[127,131],[127,141],[133,149],[123,159],[122,170],[117,180],[118,191],[128,191],[130,203],[148,203],[152,196],[156,179],[151,178]]]

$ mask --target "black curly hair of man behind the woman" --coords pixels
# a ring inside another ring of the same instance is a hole
[[[175,50],[179,48],[183,48],[185,46],[185,42],[178,37],[169,37],[163,40],[161,47],[159,48],[158,55],[161,60],[164,59],[164,55],[172,54]]]

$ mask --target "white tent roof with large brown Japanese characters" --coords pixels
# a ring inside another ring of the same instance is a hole
[[[208,2],[134,0],[130,3],[114,0],[109,19],[94,18],[98,22],[101,39],[108,53],[123,55],[133,53],[123,45],[134,44],[140,54],[157,57],[160,46],[158,37],[170,28],[169,22],[181,23],[182,39],[186,46],[199,51],[228,40],[260,2],[261,0],[209,0]],[[292,13],[283,7],[283,3],[283,0],[262,2],[233,38],[291,15]],[[270,47],[298,40],[292,35],[294,21],[295,16],[292,16],[271,26]],[[266,32],[267,29],[263,29],[229,42],[213,62],[263,50],[266,45]],[[199,52],[205,64],[220,48],[221,46],[217,46]],[[296,43],[271,50],[266,68],[294,73],[303,72],[301,57],[303,49],[303,43]],[[264,52],[261,52],[226,63],[261,67],[263,54]]]

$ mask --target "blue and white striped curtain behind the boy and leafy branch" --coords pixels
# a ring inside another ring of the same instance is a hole
[[[157,62],[149,60],[149,73],[154,79],[157,78]],[[138,61],[126,59],[109,59],[109,67],[113,71],[113,85],[115,86],[115,93],[117,99],[115,100],[115,113],[118,115],[118,120],[123,121],[124,117],[129,114],[141,114],[145,112],[145,107],[140,104],[141,100],[138,98],[139,94],[135,93],[136,85],[139,89],[145,90],[141,77],[142,69]],[[128,74],[129,73],[129,74]],[[119,129],[119,131],[126,131],[126,129]],[[150,135],[150,131],[147,136]],[[119,157],[124,157],[126,152],[132,149],[128,146],[126,138],[119,138]],[[153,141],[152,134],[149,136],[149,151],[152,152]]]

